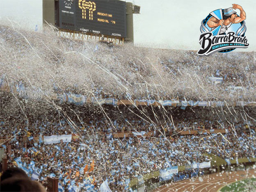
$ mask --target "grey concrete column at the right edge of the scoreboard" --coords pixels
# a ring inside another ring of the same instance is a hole
[[[126,2],[126,41],[133,43],[133,3]]]

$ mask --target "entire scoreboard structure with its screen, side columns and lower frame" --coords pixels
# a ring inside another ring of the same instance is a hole
[[[43,0],[43,25],[57,27],[65,37],[133,42],[133,14],[139,11],[121,0]]]

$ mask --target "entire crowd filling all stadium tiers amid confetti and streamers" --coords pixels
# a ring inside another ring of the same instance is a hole
[[[191,107],[190,112],[171,117],[182,110],[171,106],[158,106],[161,110],[151,106],[125,106],[126,110],[119,110],[121,106],[98,106],[100,110],[96,111],[87,103],[79,108],[53,101],[56,94],[64,92],[89,98],[254,101],[254,52],[199,57],[193,51],[129,45],[105,48],[11,26],[1,25],[0,32],[0,137],[9,139],[0,147],[8,151],[11,145],[9,166],[21,167],[31,177],[36,173],[43,184],[47,176],[58,177],[65,191],[92,191],[107,180],[112,191],[125,191],[131,179],[146,173],[209,161],[205,153],[226,160],[255,157],[255,127],[243,116],[242,121],[235,121],[237,117],[233,117],[240,112],[234,108],[229,112],[220,107]],[[229,86],[234,90],[230,91]],[[242,94],[234,86],[242,87]],[[241,110],[256,119],[255,109]],[[69,116],[71,113],[75,115]],[[60,114],[66,119],[58,119]],[[85,118],[80,121],[78,115]],[[199,129],[208,133],[178,134]],[[226,133],[212,134],[213,129]],[[117,132],[142,131],[152,131],[153,136],[113,138]],[[79,138],[56,144],[43,140],[45,136],[69,134]]]

